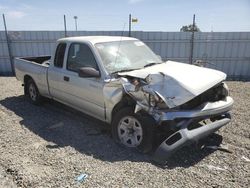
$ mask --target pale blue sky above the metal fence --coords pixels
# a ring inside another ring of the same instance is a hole
[[[0,0],[8,30],[179,31],[196,24],[204,32],[250,31],[250,0]],[[0,18],[0,30],[4,30]]]

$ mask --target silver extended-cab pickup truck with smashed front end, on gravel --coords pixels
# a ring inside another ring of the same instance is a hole
[[[226,74],[163,62],[135,38],[63,38],[52,57],[16,58],[15,73],[32,103],[51,98],[107,122],[115,141],[154,148],[159,164],[231,119]]]

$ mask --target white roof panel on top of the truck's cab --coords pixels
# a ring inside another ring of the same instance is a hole
[[[90,42],[93,45],[102,42],[115,42],[115,41],[125,41],[125,40],[138,40],[132,37],[124,36],[79,36],[79,37],[67,37],[59,39],[58,41],[67,42]]]

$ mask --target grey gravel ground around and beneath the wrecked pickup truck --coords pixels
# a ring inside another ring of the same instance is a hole
[[[31,105],[0,77],[0,187],[250,187],[250,83],[228,85],[233,120],[209,142],[230,152],[184,148],[164,169],[116,145],[109,126],[50,100]]]

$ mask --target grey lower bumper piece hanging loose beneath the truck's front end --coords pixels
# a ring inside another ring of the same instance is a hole
[[[192,120],[185,121],[180,130],[169,136],[164,140],[154,153],[153,160],[159,165],[166,165],[167,159],[180,148],[191,143],[199,141],[201,138],[207,137],[216,132],[218,129],[229,123],[231,116],[229,113],[221,115],[219,120],[203,125],[198,128],[191,129],[189,125]]]

